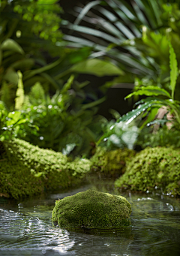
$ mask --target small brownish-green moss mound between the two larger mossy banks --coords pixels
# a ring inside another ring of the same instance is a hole
[[[92,171],[103,173],[105,176],[118,177],[126,170],[126,163],[135,155],[131,149],[115,149],[107,151],[98,147],[95,155],[91,158]]]

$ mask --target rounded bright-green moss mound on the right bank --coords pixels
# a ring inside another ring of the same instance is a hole
[[[147,191],[157,188],[180,195],[180,151],[165,147],[146,148],[127,164],[115,187]]]

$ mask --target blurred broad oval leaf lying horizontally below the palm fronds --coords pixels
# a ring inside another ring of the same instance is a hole
[[[124,72],[111,62],[101,59],[88,59],[84,62],[77,63],[71,68],[71,71],[78,73],[94,74],[98,77],[123,75]]]

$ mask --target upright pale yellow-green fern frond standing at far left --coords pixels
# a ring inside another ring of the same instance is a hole
[[[21,71],[17,71],[18,74],[18,86],[17,86],[17,93],[15,98],[15,110],[21,110],[23,103],[24,103],[24,88],[23,88],[23,74]]]

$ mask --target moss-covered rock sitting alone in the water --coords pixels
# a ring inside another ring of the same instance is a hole
[[[55,201],[52,221],[59,227],[112,229],[130,224],[130,203],[121,196],[89,189]]]

